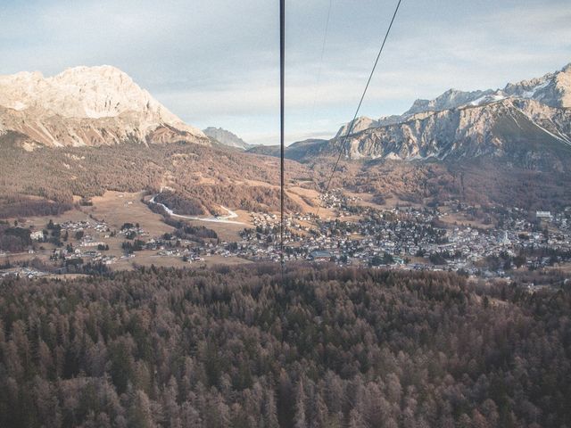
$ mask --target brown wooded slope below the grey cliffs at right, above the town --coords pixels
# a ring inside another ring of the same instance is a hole
[[[328,177],[329,161],[312,163],[314,179]],[[342,161],[331,187],[396,196],[407,202],[458,200],[525,210],[561,210],[571,205],[571,174],[523,169],[506,160]]]

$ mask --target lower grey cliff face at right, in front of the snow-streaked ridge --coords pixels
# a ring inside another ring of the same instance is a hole
[[[542,168],[548,165],[541,160],[549,157],[554,168],[564,169],[571,155],[570,120],[568,109],[510,99],[418,114],[404,123],[367,129],[349,137],[344,154],[402,161],[493,156],[527,164],[536,158]],[[332,140],[331,149],[339,150],[342,143],[342,137]]]

